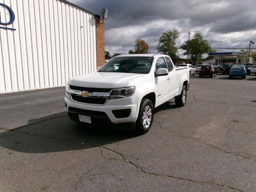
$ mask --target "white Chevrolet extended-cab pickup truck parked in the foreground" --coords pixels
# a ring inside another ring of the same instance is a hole
[[[176,68],[167,55],[120,55],[97,72],[68,80],[64,102],[72,120],[144,134],[157,106],[171,98],[185,105],[188,87],[189,69]]]

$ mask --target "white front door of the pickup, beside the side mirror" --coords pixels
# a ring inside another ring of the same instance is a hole
[[[156,71],[159,68],[166,68],[166,63],[164,57],[160,57],[156,60]],[[169,74],[166,76],[157,76],[155,77],[156,82],[156,106],[169,100],[170,98],[170,76]]]

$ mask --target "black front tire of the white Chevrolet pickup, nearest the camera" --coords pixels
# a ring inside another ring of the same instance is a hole
[[[150,120],[149,124],[145,120],[146,116],[145,116],[144,112],[145,112],[146,108],[151,109],[151,120]],[[149,99],[142,99],[142,101],[140,103],[139,115],[138,115],[138,118],[136,121],[135,131],[138,134],[145,134],[146,132],[148,132],[148,130],[150,129],[150,127],[152,125],[153,118],[154,118],[154,106],[152,104],[152,101]],[[145,124],[148,124],[148,125],[145,126]]]

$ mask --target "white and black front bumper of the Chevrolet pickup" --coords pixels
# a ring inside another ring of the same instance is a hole
[[[135,96],[107,100],[104,105],[86,104],[72,100],[66,93],[64,98],[68,115],[72,120],[79,121],[78,114],[90,116],[92,125],[104,121],[109,124],[134,123],[138,118],[140,100]],[[116,118],[113,110],[130,110],[130,115],[125,118]]]

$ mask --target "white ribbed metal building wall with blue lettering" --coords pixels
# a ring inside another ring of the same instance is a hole
[[[0,93],[64,86],[96,70],[96,21],[59,0],[0,0],[15,20],[0,28]],[[1,21],[10,20],[0,6]]]

